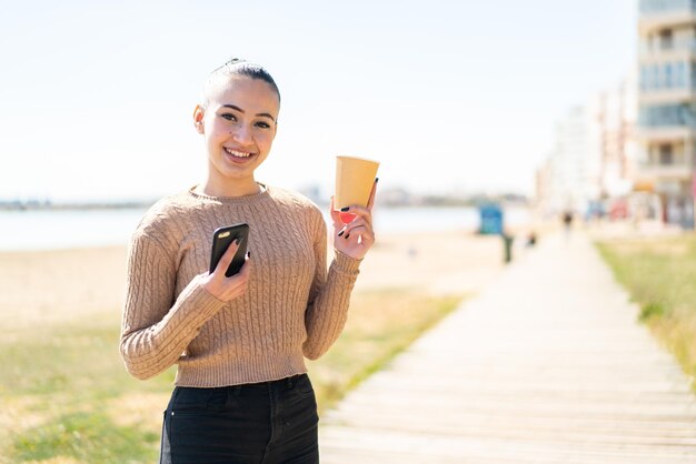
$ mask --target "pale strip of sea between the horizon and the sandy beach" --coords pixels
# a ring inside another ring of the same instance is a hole
[[[128,243],[147,209],[0,211],[0,251],[61,250]],[[526,226],[526,208],[504,210],[506,226]],[[328,221],[328,214],[327,214]],[[475,232],[480,224],[478,209],[376,208],[375,232]]]

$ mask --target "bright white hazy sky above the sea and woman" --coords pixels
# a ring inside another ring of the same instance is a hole
[[[554,125],[635,68],[634,0],[0,0],[0,200],[159,198],[206,175],[192,110],[232,57],[282,103],[259,181],[530,194]]]

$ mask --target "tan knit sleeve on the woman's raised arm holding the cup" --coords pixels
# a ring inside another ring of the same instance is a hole
[[[327,273],[327,228],[324,219],[319,222],[315,236],[315,278],[305,313],[307,340],[302,345],[305,356],[310,360],[326,353],[344,330],[361,262],[335,251]]]

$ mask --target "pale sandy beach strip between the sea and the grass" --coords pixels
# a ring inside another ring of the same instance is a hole
[[[464,232],[379,236],[357,291],[418,288],[475,292],[503,269],[498,236]],[[0,253],[0,326],[59,323],[120,312],[126,246]]]

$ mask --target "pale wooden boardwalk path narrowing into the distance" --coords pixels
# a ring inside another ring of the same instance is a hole
[[[327,412],[321,462],[696,463],[696,396],[636,312],[550,238]]]

